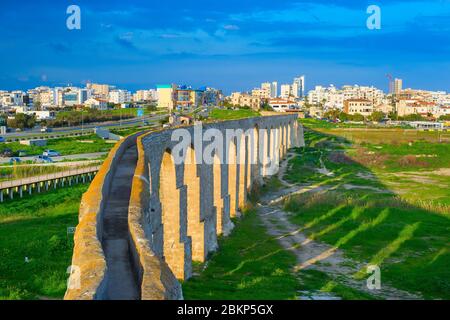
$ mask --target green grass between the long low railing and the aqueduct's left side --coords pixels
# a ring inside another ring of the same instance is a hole
[[[0,205],[0,299],[62,298],[81,195],[88,185]],[[25,262],[25,257],[29,262]]]

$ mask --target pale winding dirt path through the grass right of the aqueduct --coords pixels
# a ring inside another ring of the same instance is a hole
[[[287,159],[293,157],[289,154]],[[329,187],[320,185],[296,186],[286,182],[283,176],[287,170],[288,161],[280,164],[278,178],[285,186],[281,190],[265,194],[257,206],[268,233],[277,238],[280,244],[295,254],[297,265],[293,272],[301,270],[318,270],[325,272],[332,279],[339,278],[339,283],[384,299],[419,299],[419,296],[397,290],[382,283],[380,290],[367,288],[366,280],[357,280],[354,275],[366,266],[344,256],[343,252],[328,244],[314,241],[307,237],[303,227],[298,227],[288,220],[289,213],[281,205],[286,197],[305,192],[326,192]],[[300,275],[301,276],[301,275]],[[301,279],[300,279],[301,280]],[[319,289],[319,288],[318,288]],[[339,299],[339,297],[324,292],[299,292],[299,299]]]

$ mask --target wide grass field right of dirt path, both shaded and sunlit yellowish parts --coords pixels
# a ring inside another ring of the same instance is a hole
[[[425,168],[448,168],[449,146],[416,141],[385,143],[380,148],[370,139],[351,144],[344,137],[313,130],[307,130],[305,139],[306,147],[297,149],[298,156],[291,160],[288,180],[334,187],[334,191],[292,198],[286,203],[293,213],[291,222],[355,261],[379,265],[382,281],[395,288],[427,299],[449,299],[450,177],[436,177],[416,162],[395,161],[436,154],[427,158]],[[370,154],[356,152],[358,148]],[[317,172],[320,157],[333,176]],[[409,181],[407,176],[397,176],[400,170],[422,172],[433,182]],[[361,173],[371,178],[362,178]],[[346,184],[363,189],[344,188]],[[364,271],[353,276],[365,277]]]

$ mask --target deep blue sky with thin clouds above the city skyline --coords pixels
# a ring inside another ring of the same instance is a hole
[[[66,9],[81,8],[81,30]],[[366,27],[368,5],[381,30]],[[306,75],[375,85],[386,74],[450,91],[450,0],[1,0],[0,89],[105,82],[248,90]]]

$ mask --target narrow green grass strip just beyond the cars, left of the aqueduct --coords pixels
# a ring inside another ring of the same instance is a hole
[[[61,153],[61,155],[72,155],[81,153],[96,153],[106,152],[111,150],[114,143],[106,142],[99,138],[97,135],[82,136],[76,138],[61,138],[61,139],[49,139],[47,140],[47,146],[26,146],[19,142],[12,142],[1,144],[0,152],[6,148],[11,149],[13,152],[18,150],[24,150],[29,156],[39,155],[46,149],[54,149]]]

